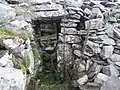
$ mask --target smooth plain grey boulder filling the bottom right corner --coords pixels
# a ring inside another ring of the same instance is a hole
[[[111,76],[103,84],[101,90],[120,90],[120,79],[116,76]]]

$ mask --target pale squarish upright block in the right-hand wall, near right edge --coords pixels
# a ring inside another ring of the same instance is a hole
[[[110,58],[112,56],[113,50],[114,50],[114,47],[112,45],[103,46],[103,49],[102,49],[102,52],[101,52],[100,56],[103,59],[108,59],[108,58]]]

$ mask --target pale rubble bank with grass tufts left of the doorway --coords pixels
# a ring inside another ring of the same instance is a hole
[[[25,90],[34,73],[33,29],[24,1],[0,0],[0,90]]]

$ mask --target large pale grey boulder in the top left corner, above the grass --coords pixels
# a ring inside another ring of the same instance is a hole
[[[11,21],[14,20],[16,16],[15,9],[11,8],[9,5],[0,3],[0,20]]]

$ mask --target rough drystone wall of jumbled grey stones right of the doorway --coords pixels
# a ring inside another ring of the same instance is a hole
[[[58,66],[62,68],[65,62],[66,67],[69,67],[74,62],[73,68],[77,68],[80,74],[77,80],[79,86],[86,84],[102,86],[101,90],[119,90],[119,2],[60,0],[53,4],[63,6],[64,13],[60,15],[62,19],[57,49]],[[45,14],[39,15],[43,17]],[[39,15],[35,16],[40,18]],[[54,15],[44,17],[51,18]],[[82,72],[85,73],[81,75]],[[113,82],[110,83],[109,80]],[[106,88],[112,87],[113,83],[118,89]]]

